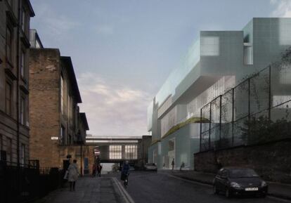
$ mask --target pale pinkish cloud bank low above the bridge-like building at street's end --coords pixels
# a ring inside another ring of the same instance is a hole
[[[89,133],[94,136],[142,136],[147,133],[146,110],[151,94],[84,73],[78,78]]]

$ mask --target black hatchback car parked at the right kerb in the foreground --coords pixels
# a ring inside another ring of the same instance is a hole
[[[253,169],[223,168],[213,180],[215,194],[223,192],[226,197],[233,195],[260,195],[266,197],[268,185]]]

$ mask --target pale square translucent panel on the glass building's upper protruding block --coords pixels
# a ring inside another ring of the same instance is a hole
[[[219,55],[219,37],[201,37],[201,55]]]

